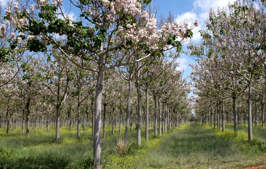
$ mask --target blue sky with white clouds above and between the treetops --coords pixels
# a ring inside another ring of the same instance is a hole
[[[0,0],[3,9],[6,7],[7,1],[8,0]],[[16,0],[13,0],[13,2],[15,1]],[[196,18],[198,18],[199,26],[193,29],[192,42],[199,43],[201,37],[198,31],[200,29],[206,29],[204,21],[208,18],[208,11],[211,8],[216,11],[218,6],[222,8],[224,6],[227,6],[229,2],[232,3],[233,1],[235,0],[153,0],[151,2],[151,5],[159,7],[157,16],[163,14],[167,17],[169,11],[171,11],[174,19],[180,22],[184,19],[187,19],[192,23]],[[69,0],[63,0],[63,7],[67,8],[67,6],[69,7]],[[75,14],[72,15],[74,16]],[[187,49],[187,45],[188,42],[184,44],[183,50]],[[192,71],[191,67],[189,67],[189,64],[194,64],[195,61],[190,57],[181,54],[178,62],[180,63],[179,69],[184,70],[183,77],[189,75]]]

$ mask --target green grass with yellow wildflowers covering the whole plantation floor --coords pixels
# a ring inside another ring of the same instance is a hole
[[[117,129],[118,130],[118,129]],[[31,128],[30,131],[34,131]],[[122,130],[123,131],[123,130]],[[265,164],[265,128],[253,129],[254,141],[247,141],[244,126],[239,126],[238,136],[233,126],[226,125],[225,132],[199,123],[184,124],[177,129],[153,136],[149,142],[142,131],[142,145],[136,143],[136,131],[129,133],[129,151],[126,155],[115,153],[117,140],[107,128],[102,139],[103,168],[242,168]],[[0,129],[0,168],[93,168],[91,128],[81,132],[77,141],[76,128],[70,132],[60,128],[60,145],[55,145],[55,130],[38,129],[29,137],[21,129]]]

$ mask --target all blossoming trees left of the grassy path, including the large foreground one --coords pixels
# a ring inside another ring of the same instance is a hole
[[[151,122],[161,135],[161,128],[166,132],[190,116],[190,87],[176,58],[199,21],[178,23],[170,14],[157,22],[150,2],[79,0],[63,7],[62,0],[10,1],[0,29],[6,132],[11,123],[13,128],[25,121],[29,136],[30,123],[38,126],[40,117],[55,127],[59,144],[60,126],[77,121],[80,140],[81,124],[90,121],[94,165],[100,168],[105,123],[123,121],[126,144],[136,123],[140,146],[141,124],[148,141]]]

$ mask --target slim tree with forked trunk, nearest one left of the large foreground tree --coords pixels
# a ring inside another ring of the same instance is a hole
[[[45,86],[45,100],[50,101],[56,108],[56,144],[59,144],[60,127],[60,106],[65,101],[70,81],[75,77],[73,65],[62,56],[57,50],[54,50],[47,59],[41,60],[40,69],[42,70],[42,85]]]

